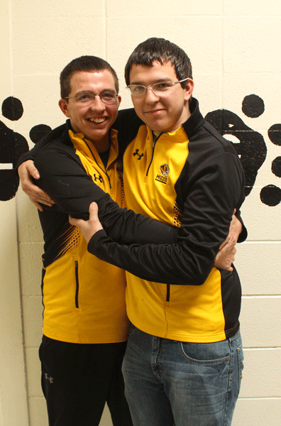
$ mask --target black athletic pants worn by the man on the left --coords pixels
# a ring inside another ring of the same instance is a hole
[[[107,403],[114,426],[133,426],[121,372],[126,342],[65,343],[39,349],[49,426],[98,426]]]

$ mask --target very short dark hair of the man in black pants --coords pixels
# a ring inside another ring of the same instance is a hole
[[[114,77],[116,92],[119,92],[119,81],[109,62],[97,56],[80,56],[72,60],[60,73],[60,97],[63,99],[71,92],[70,80],[75,72],[109,70]]]

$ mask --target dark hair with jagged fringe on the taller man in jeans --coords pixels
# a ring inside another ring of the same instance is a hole
[[[130,71],[134,64],[152,67],[154,61],[161,64],[171,61],[178,80],[192,78],[192,65],[184,50],[165,38],[153,37],[140,43],[128,58],[125,67],[126,84],[130,84]],[[181,84],[185,87],[187,82]]]

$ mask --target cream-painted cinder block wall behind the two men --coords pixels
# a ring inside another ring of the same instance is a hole
[[[12,170],[19,149],[13,138],[7,142],[7,129],[23,136],[22,148],[24,139],[32,148],[38,125],[61,124],[58,77],[67,62],[84,54],[114,66],[121,108],[131,107],[123,67],[133,48],[151,36],[187,51],[202,113],[214,123],[224,114],[221,131],[241,150],[248,241],[238,246],[236,268],[243,285],[245,369],[233,426],[279,426],[280,1],[2,0],[0,11],[0,253],[6,266],[0,275],[0,426],[47,426],[38,361],[43,241],[35,207],[17,191],[13,172],[2,172]],[[13,375],[21,377],[18,386],[7,385]],[[101,426],[111,426],[107,411]]]

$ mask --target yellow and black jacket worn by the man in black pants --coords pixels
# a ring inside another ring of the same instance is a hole
[[[62,342],[122,342],[128,332],[124,271],[87,251],[68,214],[85,219],[89,204],[97,201],[107,230],[119,241],[175,241],[171,226],[119,208],[122,168],[116,134],[111,131],[106,168],[93,143],[73,133],[69,121],[45,137],[40,151],[42,143],[21,158],[34,159],[40,173],[36,183],[56,203],[39,212],[45,240],[43,334]]]

